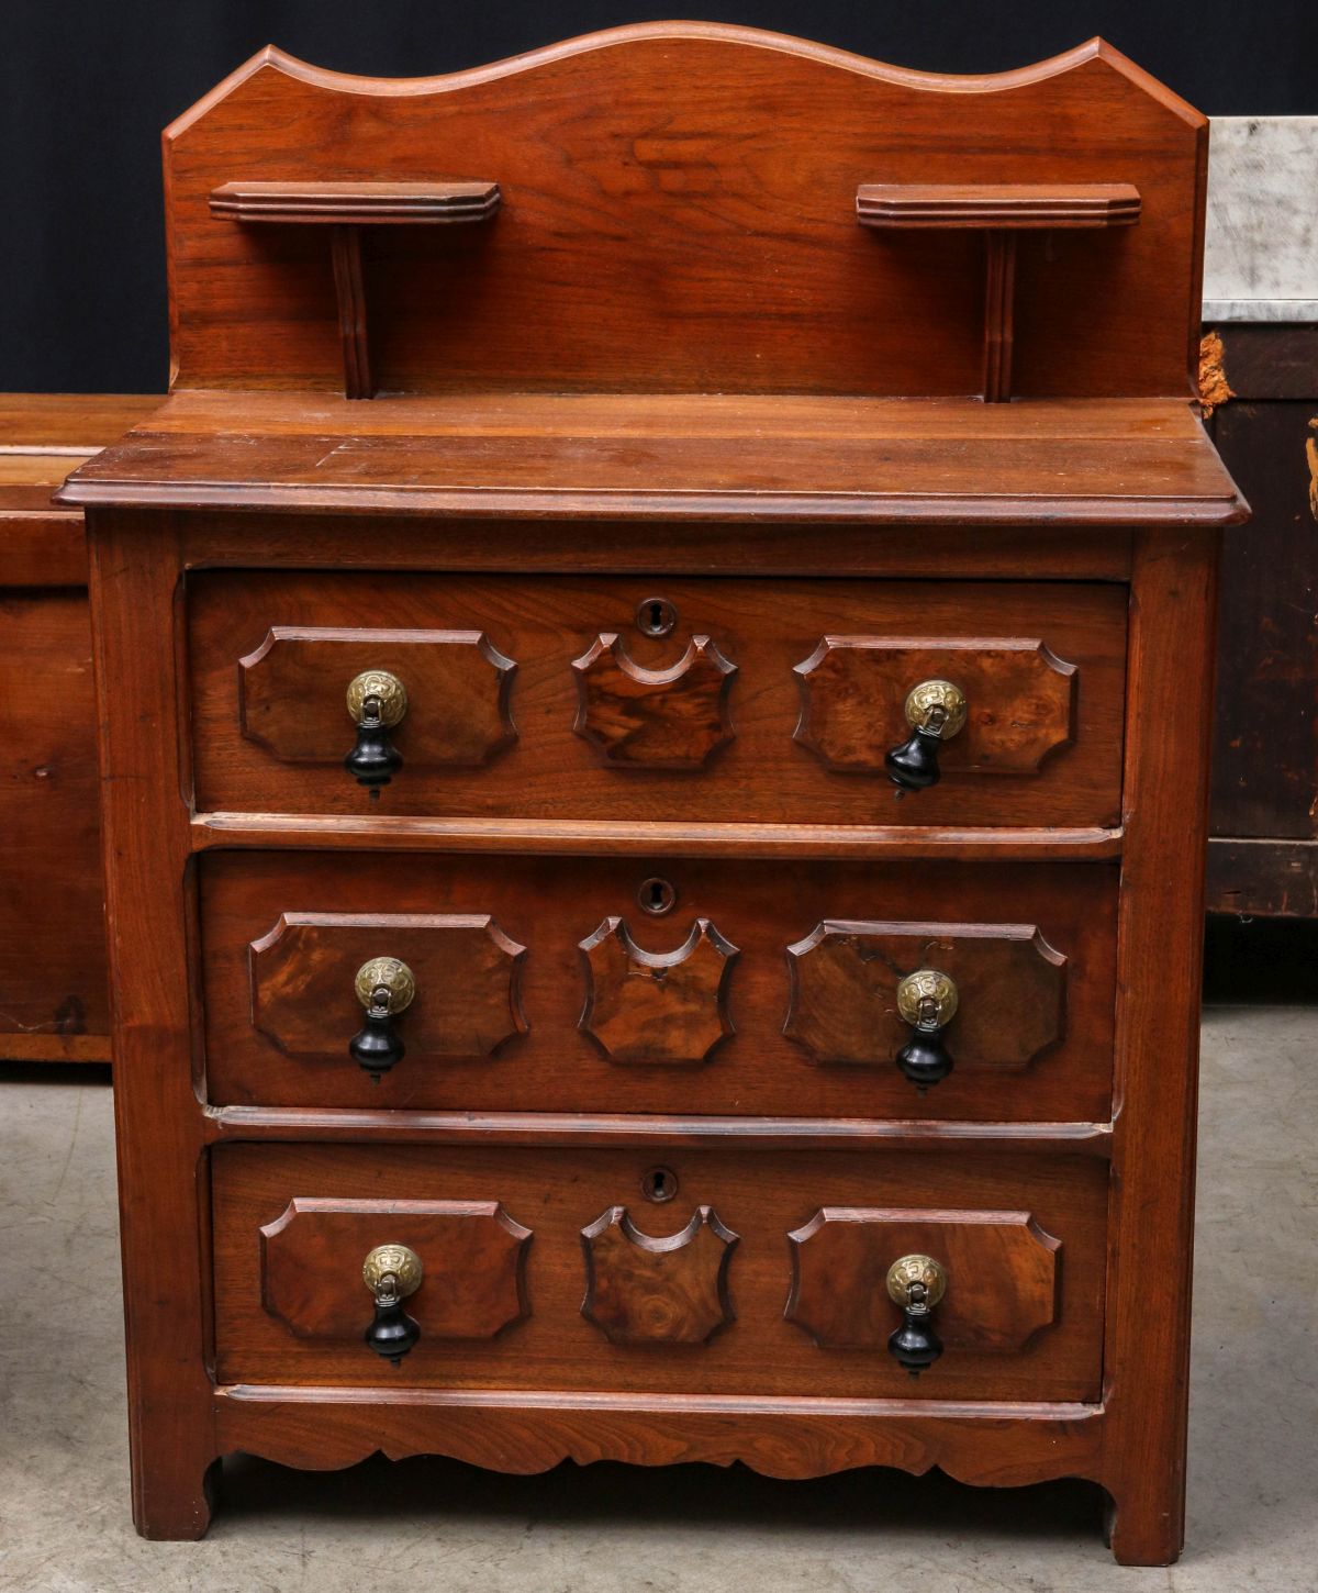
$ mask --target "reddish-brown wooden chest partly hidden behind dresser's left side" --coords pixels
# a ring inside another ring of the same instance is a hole
[[[108,1063],[83,516],[72,468],[159,398],[0,393],[0,1058]]]

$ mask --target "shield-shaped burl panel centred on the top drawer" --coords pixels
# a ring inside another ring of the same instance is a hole
[[[669,669],[643,669],[608,632],[575,658],[575,730],[603,763],[699,769],[732,738],[727,695],[737,674],[707,636],[692,636]]]

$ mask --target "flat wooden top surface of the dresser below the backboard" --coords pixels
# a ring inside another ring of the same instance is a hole
[[[1073,526],[1216,527],[1246,513],[1197,406],[1178,395],[1008,406],[183,393],[81,467],[59,502],[812,524],[1055,526],[1065,516]]]

